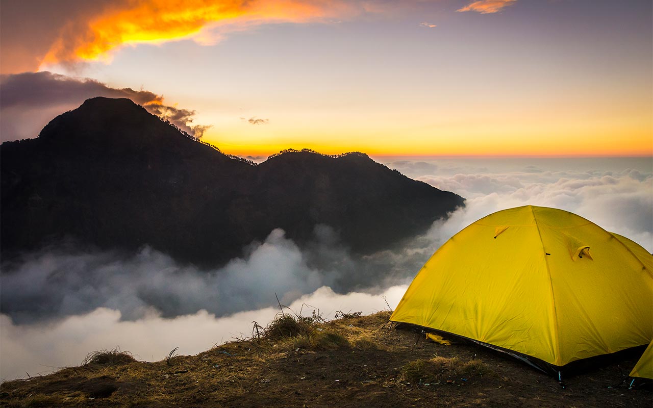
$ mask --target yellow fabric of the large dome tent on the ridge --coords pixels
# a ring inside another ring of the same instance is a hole
[[[554,208],[490,214],[434,253],[390,320],[554,366],[648,344],[653,257],[626,240]]]

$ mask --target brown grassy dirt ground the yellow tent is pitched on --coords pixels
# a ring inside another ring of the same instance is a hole
[[[306,320],[299,332],[278,324],[259,329],[258,340],[154,363],[127,353],[96,353],[79,367],[1,384],[0,405],[650,408],[653,403],[650,391],[628,389],[636,358],[571,377],[562,388],[482,347],[423,339],[415,344],[418,334],[394,330],[388,317],[379,312]]]

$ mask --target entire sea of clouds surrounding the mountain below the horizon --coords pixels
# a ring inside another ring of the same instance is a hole
[[[300,249],[282,230],[219,270],[180,265],[144,247],[125,255],[70,246],[3,264],[0,377],[76,365],[101,349],[161,360],[251,335],[278,311],[374,311],[398,304],[407,284],[453,234],[492,212],[533,204],[577,213],[653,251],[653,168],[630,159],[402,159],[382,163],[467,198],[402,248],[351,255],[328,226]],[[387,302],[387,303],[386,303]]]

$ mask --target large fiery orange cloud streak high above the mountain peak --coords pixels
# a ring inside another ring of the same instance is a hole
[[[121,46],[217,36],[260,24],[327,21],[365,12],[344,0],[129,0],[104,8],[82,22],[70,22],[42,63],[108,59]]]

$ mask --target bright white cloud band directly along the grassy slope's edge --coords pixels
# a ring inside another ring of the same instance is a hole
[[[321,287],[286,306],[305,316],[315,310],[324,319],[332,319],[338,310],[368,314],[387,309],[388,305],[395,307],[406,287],[390,287],[382,294],[347,295]],[[276,302],[274,294],[272,300]],[[163,360],[175,347],[179,347],[180,355],[197,354],[236,337],[251,336],[253,321],[265,326],[278,312],[278,307],[266,307],[219,318],[200,310],[174,319],[151,313],[126,321],[118,310],[99,307],[50,324],[15,324],[7,315],[0,315],[0,379],[12,380],[25,377],[26,373],[34,376],[76,366],[91,351],[116,347],[145,361]]]

